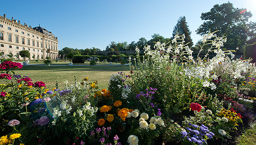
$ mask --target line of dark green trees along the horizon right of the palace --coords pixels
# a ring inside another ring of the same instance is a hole
[[[224,50],[235,50],[239,47],[239,51],[242,52],[246,45],[256,43],[256,23],[249,22],[249,18],[252,16],[251,12],[247,12],[247,9],[234,8],[233,4],[228,2],[222,5],[214,5],[210,12],[202,13],[201,19],[204,23],[196,30],[197,34],[204,35],[209,32],[217,31],[217,36],[226,36],[227,42],[224,43]],[[185,35],[184,44],[187,44],[192,50],[199,49],[202,41],[198,41],[195,46],[191,39],[191,31],[186,22],[185,16],[180,16],[173,29],[172,36],[165,38],[160,34],[151,35],[152,39],[146,40],[141,37],[137,42],[132,41],[131,44],[125,42],[114,42],[111,41],[104,51],[109,52],[120,52],[120,51],[134,51],[136,47],[143,50],[144,46],[150,45],[153,49],[156,42],[161,43],[170,42],[174,36]],[[181,40],[178,40],[181,41]],[[207,47],[206,47],[207,50]],[[96,55],[96,51],[100,51],[99,48],[86,48],[86,49],[73,49],[65,47],[59,54],[67,55],[68,53],[74,53],[74,55]],[[97,54],[99,55],[99,54]]]

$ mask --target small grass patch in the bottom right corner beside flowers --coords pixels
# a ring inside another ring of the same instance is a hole
[[[243,135],[237,139],[237,145],[256,145],[256,124],[244,130]]]

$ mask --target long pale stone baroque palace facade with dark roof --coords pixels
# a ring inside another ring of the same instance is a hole
[[[52,32],[40,27],[32,28],[26,23],[6,18],[6,14],[0,16],[0,52],[3,54],[17,55],[19,51],[28,50],[30,59],[58,58],[58,38]]]

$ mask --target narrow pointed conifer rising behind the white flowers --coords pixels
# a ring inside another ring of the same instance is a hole
[[[174,29],[173,29],[173,32],[172,32],[172,39],[177,34],[177,32],[178,32],[178,35],[185,34],[185,39],[184,39],[185,43],[184,44],[189,43],[187,46],[189,46],[191,48],[193,46],[193,42],[192,42],[192,39],[191,39],[191,36],[190,36],[191,31],[189,30],[189,26],[187,25],[185,16],[183,16],[183,17],[180,16],[176,26],[174,26]],[[177,42],[179,42],[179,41],[181,41],[181,40],[178,40]]]

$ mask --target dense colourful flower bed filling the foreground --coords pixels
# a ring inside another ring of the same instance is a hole
[[[214,33],[203,37],[201,51],[211,45],[215,57],[194,59],[177,43],[184,37],[145,47],[143,60],[137,50],[131,71],[112,74],[101,89],[88,77],[47,88],[15,74],[20,63],[1,63],[0,144],[202,145],[234,138],[254,118],[255,64],[233,60]]]

